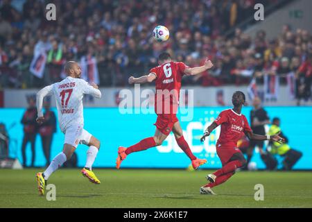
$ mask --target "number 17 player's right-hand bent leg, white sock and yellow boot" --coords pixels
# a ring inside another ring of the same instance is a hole
[[[83,176],[87,177],[90,182],[100,184],[101,181],[98,180],[92,171],[92,165],[96,159],[96,155],[98,154],[101,143],[98,139],[96,139],[96,137],[89,135],[86,130],[84,130],[83,135],[85,135],[87,139],[83,139],[81,142],[83,144],[87,144],[89,149],[87,150],[87,162],[85,163],[85,167],[81,170],[81,173],[83,173]]]

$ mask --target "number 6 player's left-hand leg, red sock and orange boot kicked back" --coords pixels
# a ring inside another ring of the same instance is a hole
[[[138,152],[138,151],[145,151],[148,148],[162,145],[162,142],[166,139],[168,135],[164,135],[162,132],[160,132],[158,129],[156,129],[155,135],[153,137],[148,137],[145,139],[142,139],[140,142],[133,146],[129,146],[128,148],[120,146],[118,149],[118,157],[116,160],[116,168],[120,168],[120,164],[123,160],[125,160],[125,157],[129,155],[130,153]]]

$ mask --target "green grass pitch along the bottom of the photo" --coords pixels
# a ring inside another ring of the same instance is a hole
[[[0,207],[312,207],[311,172],[238,172],[214,191],[199,194],[211,171],[95,169],[101,185],[60,169],[49,183],[56,200],[37,195],[38,169],[0,170]],[[254,185],[264,200],[254,200]]]

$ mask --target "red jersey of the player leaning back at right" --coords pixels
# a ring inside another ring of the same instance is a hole
[[[244,132],[252,132],[246,117],[232,109],[222,111],[214,122],[221,125],[217,148],[220,145],[236,147],[239,139],[245,135]]]

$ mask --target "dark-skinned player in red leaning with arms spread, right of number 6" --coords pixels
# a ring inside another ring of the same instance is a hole
[[[200,139],[200,141],[203,142],[205,137],[208,137],[212,130],[221,125],[220,137],[216,144],[216,152],[218,157],[220,157],[222,168],[207,175],[206,178],[209,183],[200,187],[200,194],[215,194],[211,189],[212,187],[216,187],[227,181],[233,176],[236,169],[243,167],[246,164],[243,153],[241,153],[241,150],[236,147],[236,143],[244,134],[249,139],[271,140],[279,143],[284,142],[284,139],[279,137],[279,133],[272,136],[252,133],[246,117],[241,114],[241,108],[245,105],[245,94],[243,94],[243,92],[234,92],[232,103],[234,108],[221,112],[217,119],[208,126],[204,135]]]

